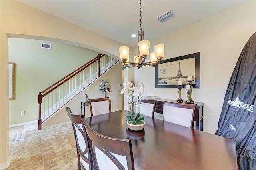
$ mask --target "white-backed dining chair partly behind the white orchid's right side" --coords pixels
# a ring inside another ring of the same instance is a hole
[[[154,118],[156,100],[142,99],[140,102],[140,114]]]

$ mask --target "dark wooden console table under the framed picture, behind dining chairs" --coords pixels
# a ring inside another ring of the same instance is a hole
[[[170,99],[162,99],[162,98],[156,98],[156,108],[155,108],[155,112],[163,114],[163,106],[164,106],[164,101],[167,102],[174,102],[177,103],[176,100],[170,100]],[[183,102],[185,103],[185,102]],[[195,115],[195,122],[196,124],[194,125],[194,128],[197,130],[201,130],[203,131],[203,107],[204,107],[204,103],[200,103],[200,102],[195,102],[196,104],[196,115]]]

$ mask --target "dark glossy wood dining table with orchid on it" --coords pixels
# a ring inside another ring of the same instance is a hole
[[[143,130],[126,124],[130,112],[119,110],[86,118],[96,132],[132,141],[136,170],[236,170],[234,140],[145,117]]]

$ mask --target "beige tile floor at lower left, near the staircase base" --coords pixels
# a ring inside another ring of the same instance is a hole
[[[16,133],[20,137],[11,137]],[[40,131],[34,125],[10,128],[10,156],[6,170],[77,170],[72,124]]]

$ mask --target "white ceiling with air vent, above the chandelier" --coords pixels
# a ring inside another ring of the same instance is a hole
[[[48,14],[135,47],[140,29],[139,0],[19,0]],[[244,0],[142,0],[142,30],[145,40],[169,32],[231,8]],[[174,18],[157,20],[172,10]],[[239,12],[239,11],[238,11]]]

